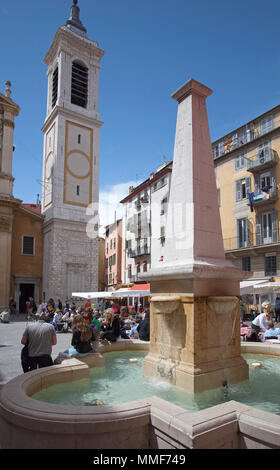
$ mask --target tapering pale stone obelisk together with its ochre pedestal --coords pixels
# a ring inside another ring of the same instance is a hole
[[[240,355],[240,280],[250,276],[226,260],[206,98],[194,79],[178,102],[163,261],[151,282],[150,351],[143,373],[189,392],[248,378]]]

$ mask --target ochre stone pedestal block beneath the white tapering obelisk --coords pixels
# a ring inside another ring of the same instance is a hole
[[[247,380],[248,365],[240,355],[238,297],[153,296],[143,374],[190,393]]]

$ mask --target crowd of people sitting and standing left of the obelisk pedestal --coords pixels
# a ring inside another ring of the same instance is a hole
[[[43,302],[38,308],[34,299],[29,299],[28,322],[21,339],[24,345],[21,363],[24,372],[59,364],[62,360],[97,352],[99,344],[110,344],[118,339],[150,340],[149,309],[140,311],[114,302],[96,306],[86,301],[77,307],[74,302],[57,305],[53,299]],[[72,332],[71,346],[53,361],[52,346],[57,344],[58,332]]]

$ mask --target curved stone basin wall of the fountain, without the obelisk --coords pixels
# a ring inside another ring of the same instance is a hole
[[[244,343],[241,348],[242,353],[280,356],[279,346],[273,344]],[[148,350],[149,344],[123,340],[102,346],[100,353],[127,349]],[[87,379],[90,369],[85,359],[22,374],[4,386],[0,399],[2,448],[280,448],[280,416],[235,401],[190,413],[155,396],[86,407],[32,398],[53,384]],[[95,366],[101,365],[102,357],[97,354]]]

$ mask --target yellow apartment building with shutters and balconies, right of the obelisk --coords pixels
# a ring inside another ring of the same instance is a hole
[[[280,105],[213,142],[226,257],[252,279],[280,274]]]

